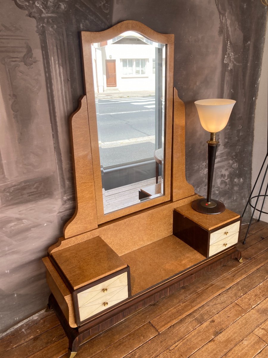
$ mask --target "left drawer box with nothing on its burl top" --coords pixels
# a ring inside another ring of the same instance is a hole
[[[99,236],[55,251],[49,259],[71,292],[77,326],[131,295],[129,266]]]

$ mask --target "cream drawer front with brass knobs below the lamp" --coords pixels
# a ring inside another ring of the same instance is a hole
[[[240,220],[210,232],[209,255],[213,256],[238,242]]]

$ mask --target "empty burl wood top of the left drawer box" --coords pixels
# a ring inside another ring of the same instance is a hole
[[[51,256],[74,290],[127,266],[99,236],[53,252]]]

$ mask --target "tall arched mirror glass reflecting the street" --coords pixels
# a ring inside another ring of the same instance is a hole
[[[164,195],[166,44],[91,44],[104,214]]]

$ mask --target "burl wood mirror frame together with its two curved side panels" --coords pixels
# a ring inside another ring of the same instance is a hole
[[[167,45],[164,195],[104,214],[91,43],[106,41],[126,31],[138,32],[154,42]],[[65,238],[96,229],[107,221],[194,194],[192,185],[185,179],[184,103],[179,100],[175,89],[173,99],[174,35],[160,34],[138,21],[128,20],[103,32],[82,32],[81,41],[86,96],[81,98],[80,106],[71,118],[76,210],[64,227]]]

